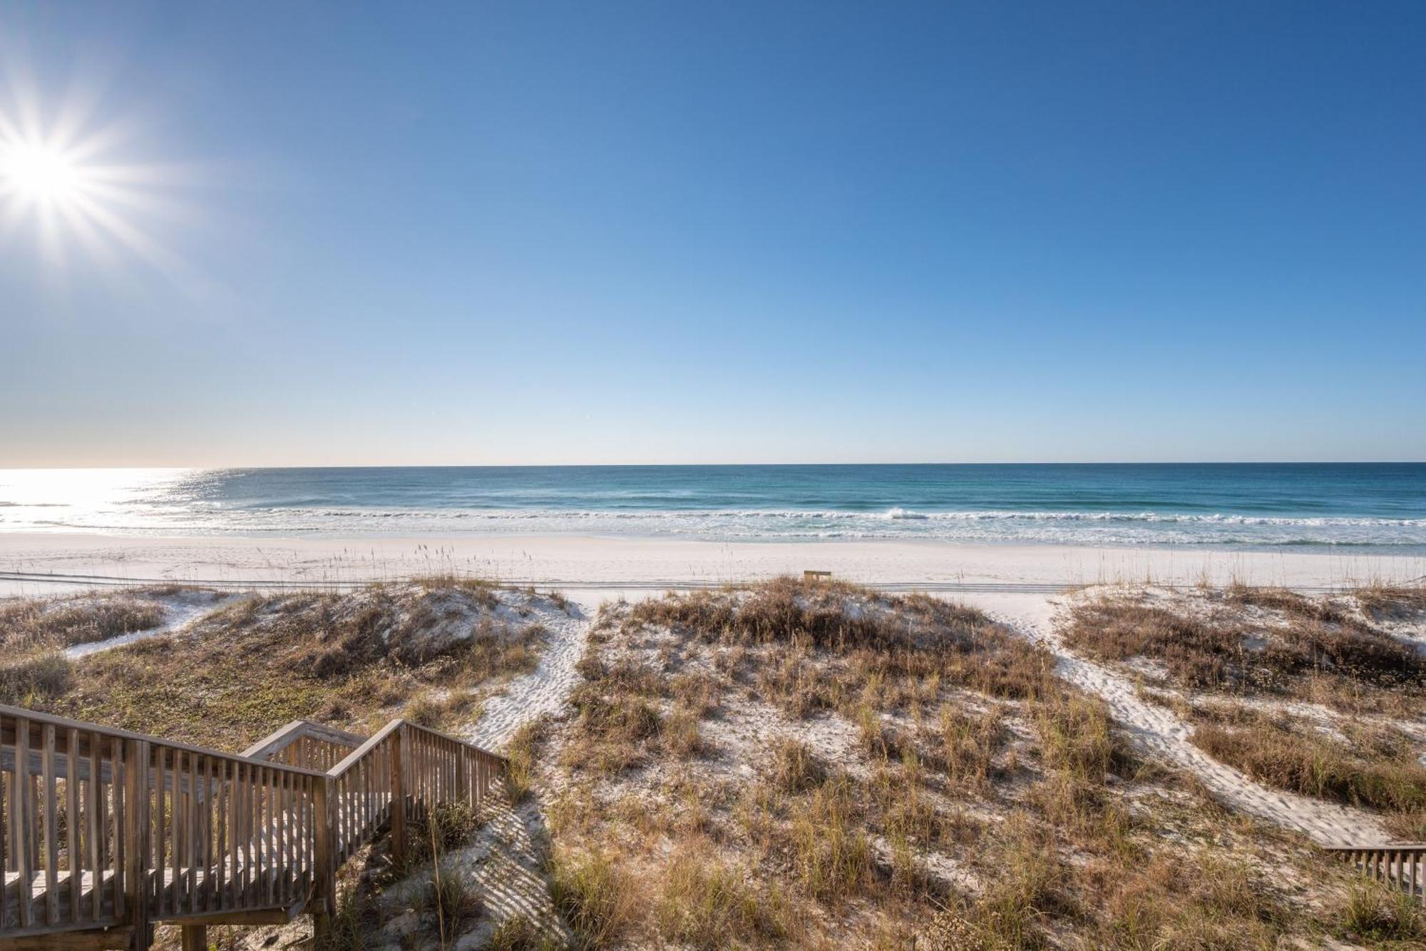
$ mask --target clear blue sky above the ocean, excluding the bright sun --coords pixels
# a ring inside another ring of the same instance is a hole
[[[145,238],[0,217],[0,466],[1422,460],[1423,50],[1415,0],[4,3],[0,114],[84,116]]]

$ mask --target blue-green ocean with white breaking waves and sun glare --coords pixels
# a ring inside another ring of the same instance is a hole
[[[1426,553],[1426,463],[0,470],[0,531]]]

